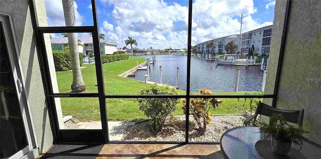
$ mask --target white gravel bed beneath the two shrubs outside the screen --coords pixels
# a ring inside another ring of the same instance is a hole
[[[242,126],[244,115],[213,115],[207,125],[206,133],[200,134],[193,116],[190,116],[190,141],[220,141],[221,135],[228,129]],[[185,141],[185,117],[167,118],[161,132],[153,134],[147,126],[147,121],[129,126],[122,141]]]

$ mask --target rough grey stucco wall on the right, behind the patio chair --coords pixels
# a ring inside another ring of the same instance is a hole
[[[275,3],[265,94],[273,93],[283,30],[285,1]],[[321,1],[293,0],[276,107],[304,108],[303,128],[309,140],[321,144]],[[265,103],[272,103],[265,99]],[[266,118],[263,118],[263,121]]]

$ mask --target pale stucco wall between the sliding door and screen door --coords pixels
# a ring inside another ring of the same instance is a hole
[[[52,145],[53,135],[45,102],[29,3],[27,0],[1,1],[0,11],[10,14],[13,19],[17,51],[25,78],[24,89],[31,107],[39,150],[42,152]]]

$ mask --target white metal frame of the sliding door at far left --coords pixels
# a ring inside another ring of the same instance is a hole
[[[38,143],[36,142],[37,137],[36,137],[36,132],[34,128],[35,126],[33,124],[33,119],[31,115],[32,113],[31,113],[29,100],[27,98],[27,94],[24,89],[24,85],[26,82],[25,82],[24,74],[21,69],[22,63],[19,58],[19,52],[18,52],[19,47],[17,45],[15,29],[13,26],[13,20],[11,15],[0,12],[0,21],[3,24],[5,42],[7,45],[10,65],[11,65],[13,77],[15,80],[15,87],[16,87],[17,96],[19,100],[20,111],[24,122],[26,137],[28,140],[28,146],[26,146],[25,148],[21,149],[20,151],[18,151],[17,153],[9,157],[9,158],[18,158],[18,157],[23,157],[27,155],[29,152],[33,151],[33,149],[39,146],[38,146]],[[19,86],[17,84],[18,79],[20,79],[22,91],[19,90]]]

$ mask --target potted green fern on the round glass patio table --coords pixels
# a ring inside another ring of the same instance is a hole
[[[281,113],[270,116],[270,124],[260,122],[259,132],[264,133],[264,139],[271,137],[271,148],[273,152],[281,155],[287,154],[291,149],[291,143],[299,145],[302,148],[304,139],[303,133],[308,131],[301,127],[289,125]],[[299,150],[300,150],[299,149]]]

